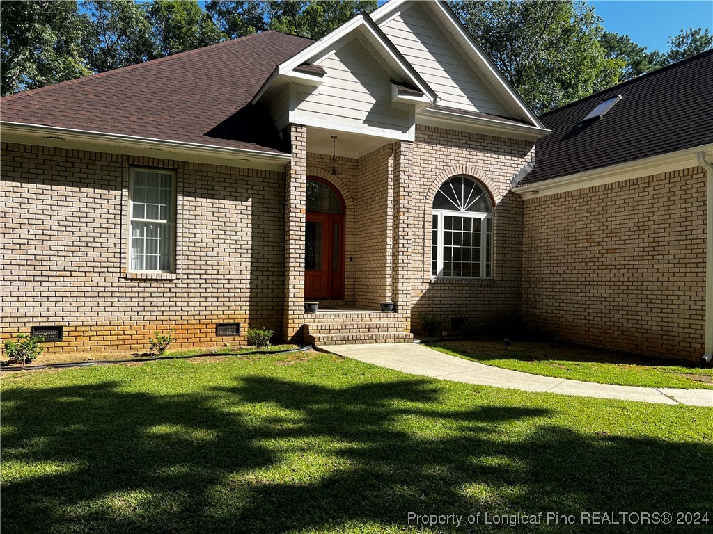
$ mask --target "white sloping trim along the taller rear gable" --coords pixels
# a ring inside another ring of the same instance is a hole
[[[376,9],[376,11],[371,14],[371,19],[381,26],[393,19],[394,16],[409,9],[409,7],[415,3],[414,0],[391,0],[386,2],[386,4],[379,9]],[[451,33],[453,36],[453,44],[456,45],[457,43],[463,50],[464,55],[470,58],[470,60],[481,69],[493,90],[496,90],[496,92],[501,95],[501,98],[503,98],[503,104],[508,105],[511,110],[516,111],[513,115],[522,116],[534,127],[546,130],[543,123],[540,122],[537,115],[535,115],[535,112],[533,112],[520,97],[518,92],[513,88],[510,82],[508,82],[505,76],[503,76],[500,70],[498,70],[493,61],[488,58],[488,55],[478,43],[476,43],[473,36],[468,33],[451,9],[448,9],[448,7],[443,5],[443,2],[439,0],[421,1],[419,4],[427,11],[430,10],[431,14],[444,26],[444,29],[446,29],[448,33]]]

